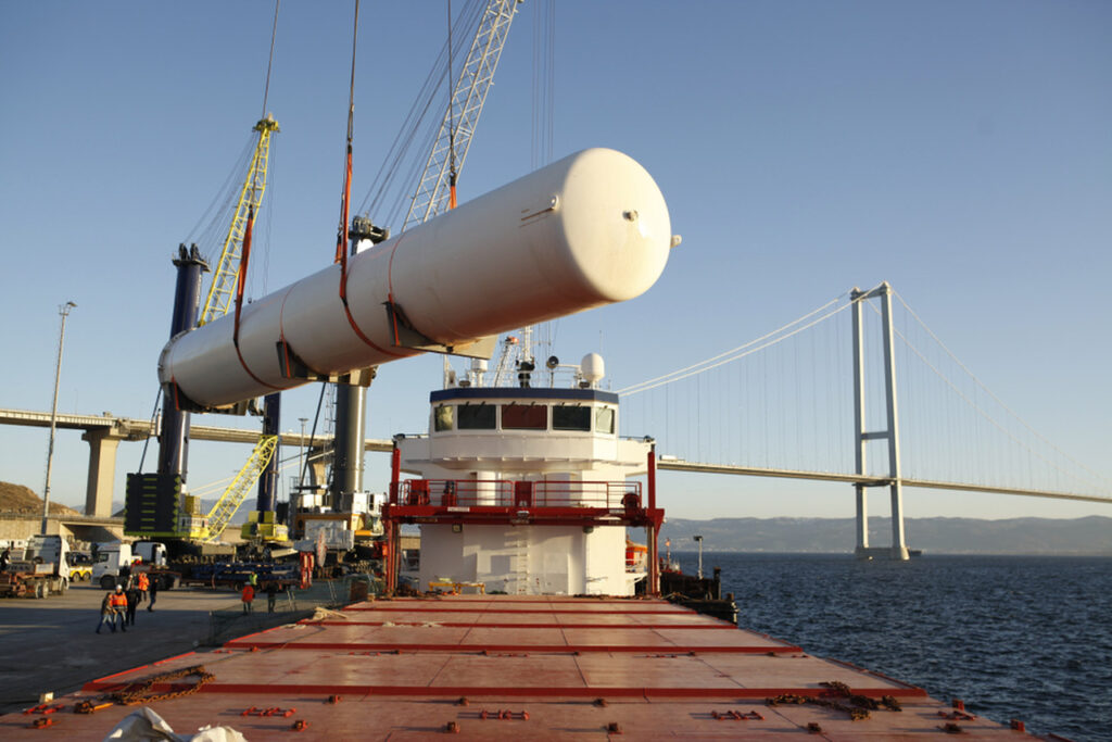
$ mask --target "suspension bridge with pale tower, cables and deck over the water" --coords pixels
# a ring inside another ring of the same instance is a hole
[[[992,394],[886,283],[618,395],[624,433],[662,432],[662,469],[852,484],[862,557],[907,557],[904,487],[1112,504],[1112,482]],[[888,494],[887,546],[870,544],[873,488]]]

